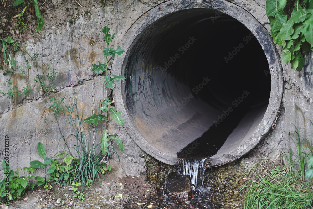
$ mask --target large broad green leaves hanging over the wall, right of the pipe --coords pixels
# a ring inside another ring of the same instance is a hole
[[[283,47],[281,59],[300,71],[303,52],[313,49],[313,0],[267,0],[271,36]]]

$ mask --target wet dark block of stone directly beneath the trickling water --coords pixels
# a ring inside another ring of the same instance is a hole
[[[190,176],[170,173],[166,181],[166,193],[169,200],[187,201],[191,195]]]

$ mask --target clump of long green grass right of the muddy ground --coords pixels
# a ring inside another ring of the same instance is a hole
[[[313,147],[312,138],[308,139],[312,135],[302,132],[296,124],[295,131],[288,133],[288,137],[296,150],[283,154],[287,165],[275,166],[272,161],[261,159],[248,170],[248,177],[244,178],[247,181],[243,184],[247,191],[245,208],[312,208]]]

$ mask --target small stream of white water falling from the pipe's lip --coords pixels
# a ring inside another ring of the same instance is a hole
[[[182,164],[178,166],[178,173],[183,175],[190,175],[191,185],[198,187],[203,184],[204,171],[203,167],[204,159],[201,160],[182,160]]]

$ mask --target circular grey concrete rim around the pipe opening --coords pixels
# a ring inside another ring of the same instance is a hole
[[[171,7],[167,7],[168,4],[171,3]],[[283,73],[282,67],[280,64],[280,56],[277,52],[277,49],[273,43],[273,40],[268,33],[268,31],[264,28],[264,26],[259,23],[259,21],[254,18],[249,12],[240,8],[239,6],[229,3],[223,0],[214,0],[214,1],[179,1],[179,0],[170,0],[160,6],[152,8],[140,18],[138,18],[135,23],[131,26],[131,28],[126,32],[123,36],[121,41],[122,48],[125,50],[125,53],[121,54],[119,57],[113,60],[112,64],[112,74],[121,74],[122,72],[122,65],[124,59],[126,57],[126,52],[129,50],[134,39],[150,24],[154,21],[158,20],[159,18],[180,10],[185,9],[194,9],[194,8],[204,8],[204,9],[213,9],[229,16],[237,19],[240,23],[242,23],[247,29],[254,34],[256,39],[259,41],[264,54],[268,60],[269,64],[269,71],[271,75],[271,91],[270,91],[270,99],[269,105],[267,110],[262,118],[262,121],[257,128],[256,131],[251,135],[249,138],[249,143],[244,143],[233,149],[228,154],[218,155],[215,154],[214,156],[206,159],[205,167],[215,167],[219,165],[226,164],[233,160],[240,158],[241,156],[247,154],[251,151],[259,142],[266,136],[267,133],[272,128],[272,125],[275,123],[275,119],[277,113],[279,111],[281,100],[283,96]],[[172,155],[163,153],[162,151],[156,149],[155,147],[151,146],[136,130],[135,126],[132,124],[130,118],[127,115],[126,107],[123,102],[122,91],[121,91],[121,84],[115,86],[113,91],[114,98],[115,98],[115,105],[117,109],[121,111],[121,116],[124,118],[124,128],[132,140],[144,150],[150,156],[156,158],[157,160],[169,164],[174,165],[177,164],[180,160],[178,157],[174,157]]]

